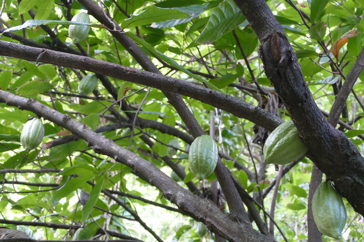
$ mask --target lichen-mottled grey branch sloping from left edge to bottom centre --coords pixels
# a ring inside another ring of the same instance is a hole
[[[179,209],[185,211],[194,219],[205,223],[209,230],[225,239],[231,242],[240,242],[249,236],[249,239],[256,242],[274,241],[254,230],[250,223],[239,221],[233,214],[225,215],[221,213],[212,201],[191,194],[161,172],[152,162],[148,162],[138,155],[121,148],[106,137],[99,136],[67,114],[59,113],[33,99],[19,97],[2,90],[0,90],[0,102],[32,111],[38,116],[70,130],[93,146],[96,153],[112,157],[116,161],[129,166],[136,173],[141,174],[152,185],[160,189],[162,194],[175,203]]]

